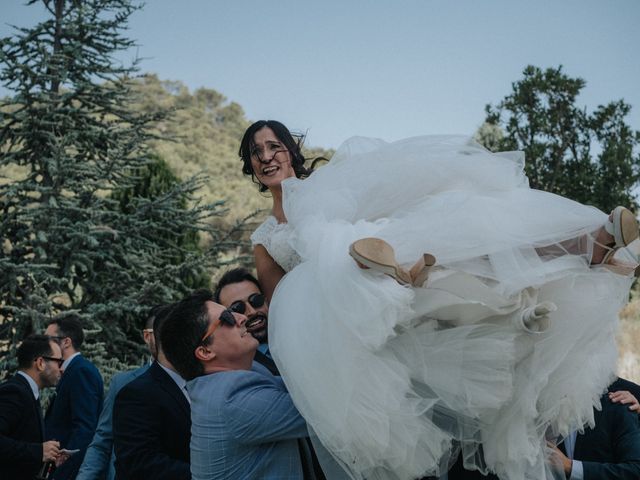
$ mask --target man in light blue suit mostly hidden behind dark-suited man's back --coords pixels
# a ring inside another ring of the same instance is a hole
[[[153,322],[159,312],[166,307],[154,307],[142,330],[142,338],[152,358],[156,358],[156,345],[153,337]],[[126,384],[138,378],[149,369],[149,365],[120,372],[111,379],[109,393],[104,399],[104,406],[98,419],[98,427],[93,440],[87,449],[84,461],[76,480],[114,480],[116,477],[115,454],[113,452],[113,404],[116,395]]]

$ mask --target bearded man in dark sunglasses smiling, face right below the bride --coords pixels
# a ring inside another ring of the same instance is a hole
[[[234,268],[226,272],[216,285],[214,301],[232,312],[247,317],[245,327],[258,340],[254,360],[279,375],[278,367],[269,352],[269,305],[262,293],[258,280],[245,268]]]

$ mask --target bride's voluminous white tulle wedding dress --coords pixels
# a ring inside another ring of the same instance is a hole
[[[270,349],[349,477],[438,476],[461,449],[468,468],[549,479],[545,438],[593,421],[631,278],[590,266],[607,214],[530,189],[523,164],[461,137],[353,138],[283,183],[287,224],[254,232],[288,272]],[[363,237],[438,269],[423,288],[361,270]],[[548,325],[523,325],[543,302]]]

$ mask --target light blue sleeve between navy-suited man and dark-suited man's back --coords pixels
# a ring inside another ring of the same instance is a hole
[[[111,380],[111,386],[104,399],[102,412],[98,419],[98,428],[96,428],[96,433],[87,449],[76,480],[108,478],[107,473],[111,466],[111,453],[113,451],[113,405],[117,393],[131,378],[131,372],[125,372],[114,376]]]

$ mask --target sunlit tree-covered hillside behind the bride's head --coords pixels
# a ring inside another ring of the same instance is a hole
[[[201,172],[207,175],[200,193],[207,202],[225,202],[227,215],[219,221],[233,224],[270,206],[267,194],[259,193],[257,185],[241,171],[238,148],[251,121],[240,105],[216,90],[199,88],[190,92],[179,81],[161,80],[153,74],[141,77],[135,85],[139,95],[135,110],[146,114],[159,109],[172,111],[156,126],[157,139],[150,146],[178,177]],[[310,159],[332,155],[321,148],[306,148],[304,152]],[[264,215],[258,213],[254,222]]]

